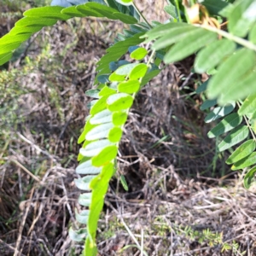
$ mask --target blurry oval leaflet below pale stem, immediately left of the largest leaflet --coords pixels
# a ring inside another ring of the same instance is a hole
[[[201,49],[195,58],[195,72],[206,73],[208,69],[216,67],[223,61],[224,57],[233,53],[236,49],[236,43],[222,39],[208,44]]]

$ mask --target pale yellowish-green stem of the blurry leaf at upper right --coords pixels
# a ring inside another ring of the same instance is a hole
[[[255,44],[251,43],[250,41],[247,41],[246,39],[236,37],[236,36],[230,34],[229,32],[225,32],[224,30],[218,29],[213,26],[204,26],[204,25],[195,25],[195,26],[200,26],[200,27],[207,29],[208,31],[211,31],[211,32],[216,32],[216,33],[218,33],[218,35],[223,36],[224,38],[228,38],[228,39],[236,42],[237,44],[241,44],[242,46],[246,47],[247,49],[253,49],[256,51]]]

